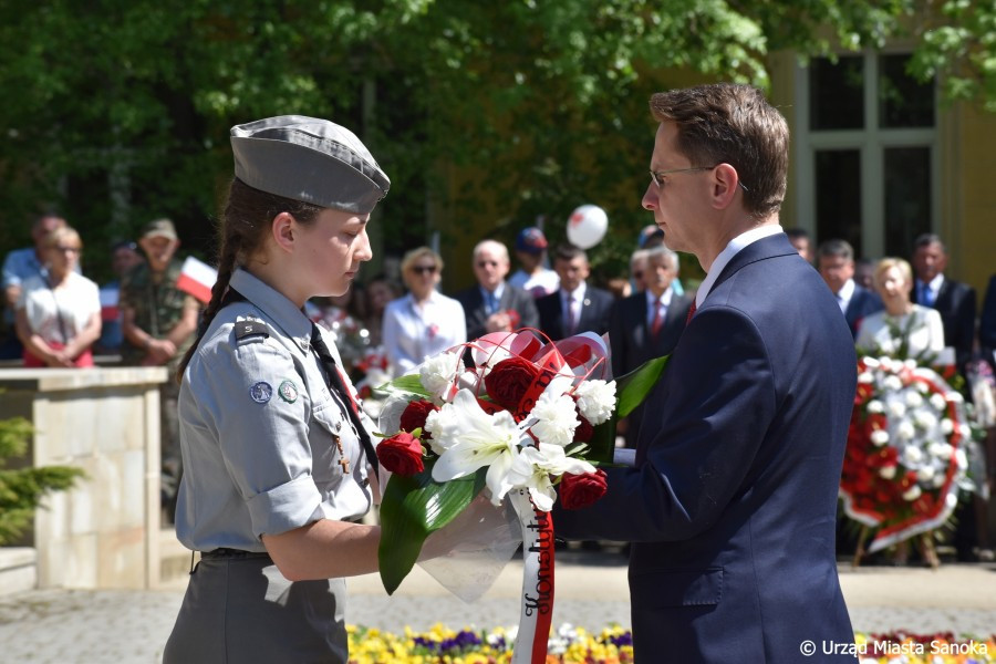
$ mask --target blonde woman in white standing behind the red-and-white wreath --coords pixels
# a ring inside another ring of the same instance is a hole
[[[944,324],[935,309],[910,301],[910,263],[901,258],[883,258],[875,266],[874,287],[885,310],[861,321],[858,347],[901,359],[936,360],[944,350]]]

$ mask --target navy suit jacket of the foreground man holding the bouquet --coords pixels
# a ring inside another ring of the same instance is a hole
[[[855,364],[784,235],[723,270],[649,396],[636,467],[609,468],[590,508],[554,507],[560,536],[633,542],[636,662],[799,662],[803,641],[852,642],[834,528]]]

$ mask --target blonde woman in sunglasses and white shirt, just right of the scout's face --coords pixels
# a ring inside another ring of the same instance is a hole
[[[402,259],[401,269],[408,294],[387,304],[382,328],[393,376],[467,341],[464,308],[436,290],[443,273],[439,255],[428,247],[412,249]]]

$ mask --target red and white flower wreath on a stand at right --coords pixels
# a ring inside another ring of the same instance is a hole
[[[962,395],[913,360],[862,357],[840,483],[844,512],[878,529],[869,551],[944,525],[966,480]]]

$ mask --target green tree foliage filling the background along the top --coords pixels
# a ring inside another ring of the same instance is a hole
[[[440,227],[508,238],[537,215],[598,203],[623,230],[600,250],[624,253],[646,221],[652,92],[689,72],[768,86],[775,50],[874,48],[913,24],[920,73],[944,74],[958,98],[996,98],[994,10],[981,4],[2,3],[0,221],[14,232],[0,249],[27,242],[42,203],[64,208],[91,248],[169,215],[207,249],[228,128],[300,113],[356,128],[391,175],[388,248]]]

